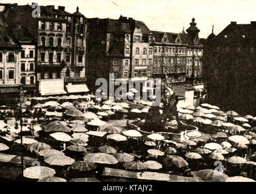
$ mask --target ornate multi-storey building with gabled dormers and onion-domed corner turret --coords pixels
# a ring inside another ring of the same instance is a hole
[[[170,85],[201,83],[203,46],[196,25],[193,18],[187,33],[151,31],[153,77],[160,77]]]

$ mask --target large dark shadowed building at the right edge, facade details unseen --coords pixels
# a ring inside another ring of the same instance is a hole
[[[231,22],[204,42],[204,81],[208,99],[224,110],[255,115],[256,22]]]

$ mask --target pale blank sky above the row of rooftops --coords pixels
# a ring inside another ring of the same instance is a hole
[[[66,11],[73,13],[76,7],[87,18],[118,19],[120,15],[143,21],[150,30],[179,33],[189,27],[194,17],[197,27],[201,30],[200,38],[207,38],[212,33],[220,33],[231,21],[238,24],[249,24],[256,21],[254,0],[74,0],[72,3],[61,0],[5,0],[2,3],[18,3],[58,5],[66,7]]]

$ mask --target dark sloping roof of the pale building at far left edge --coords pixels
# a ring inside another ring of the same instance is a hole
[[[19,48],[19,44],[8,28],[2,13],[0,13],[0,47]]]

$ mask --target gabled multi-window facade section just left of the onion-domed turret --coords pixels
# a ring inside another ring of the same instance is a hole
[[[152,31],[153,76],[170,85],[186,81],[187,44],[184,33]]]

